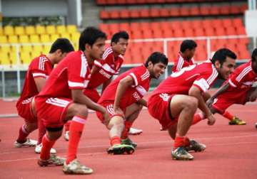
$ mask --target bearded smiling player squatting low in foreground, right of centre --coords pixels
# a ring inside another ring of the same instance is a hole
[[[148,112],[168,129],[174,139],[171,156],[177,160],[193,160],[188,151],[203,151],[206,146],[186,137],[199,108],[212,125],[215,118],[206,106],[203,94],[218,77],[228,79],[236,64],[236,54],[222,48],[204,63],[184,67],[161,82],[148,99]]]

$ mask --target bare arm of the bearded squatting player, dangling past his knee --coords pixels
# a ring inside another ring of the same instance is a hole
[[[203,99],[201,89],[196,86],[192,86],[188,91],[188,95],[191,97],[196,97],[196,99],[198,99],[198,108],[201,109],[201,111],[208,118],[208,124],[214,124],[215,118],[213,117],[211,110],[207,107],[206,102]]]

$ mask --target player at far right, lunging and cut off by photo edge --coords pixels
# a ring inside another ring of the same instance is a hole
[[[253,83],[257,82],[257,48],[253,50],[251,60],[236,68],[228,80],[213,94],[208,100],[207,105],[213,114],[218,113],[229,120],[228,124],[243,125],[245,121],[230,114],[226,109],[233,104],[246,104],[254,102],[257,97],[256,87]],[[205,119],[203,114],[196,114],[193,124]]]

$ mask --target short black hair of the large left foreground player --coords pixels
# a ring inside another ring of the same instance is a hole
[[[79,37],[79,50],[84,51],[86,43],[92,46],[99,38],[106,39],[106,34],[95,27],[88,27],[84,29]]]

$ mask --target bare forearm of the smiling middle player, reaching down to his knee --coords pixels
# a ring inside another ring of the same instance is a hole
[[[114,100],[114,111],[116,113],[123,114],[123,112],[120,109],[121,97],[123,97],[123,95],[125,94],[126,89],[132,85],[133,85],[133,79],[131,76],[126,76],[119,82],[119,85],[116,89],[115,100]]]

